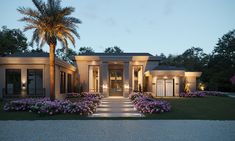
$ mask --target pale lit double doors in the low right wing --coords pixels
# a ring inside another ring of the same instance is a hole
[[[159,79],[157,80],[157,96],[173,96],[174,95],[174,80]]]

